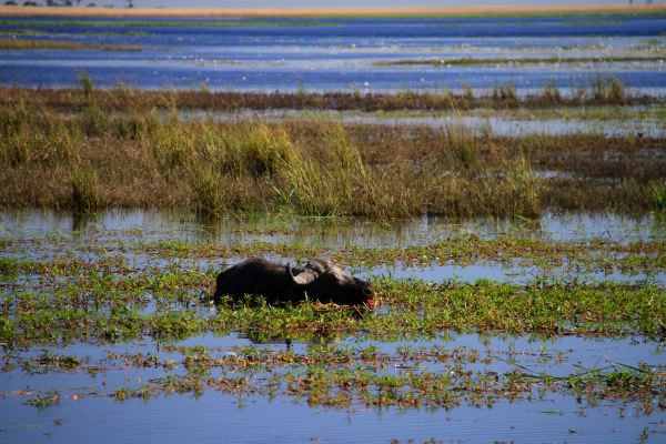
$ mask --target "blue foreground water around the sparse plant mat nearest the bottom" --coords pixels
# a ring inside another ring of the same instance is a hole
[[[246,343],[235,337],[194,337],[186,344],[225,349],[229,344]],[[344,346],[344,343],[336,344]],[[349,342],[364,347],[369,343]],[[531,367],[535,373],[569,374],[586,369],[602,369],[617,362],[664,362],[655,344],[638,341],[589,341],[576,337],[539,341],[529,337],[484,339],[464,335],[417,342],[380,344],[380,352],[392,353],[404,346],[440,345],[447,350],[477,350],[480,356],[494,359],[484,364],[497,372]],[[281,349],[280,345],[268,345]],[[293,345],[296,353],[305,344]],[[122,350],[122,346],[104,349]],[[147,347],[125,347],[132,352]],[[97,347],[71,347],[68,354],[99,359]],[[553,359],[558,356],[557,359]],[[548,362],[549,364],[544,364]],[[468,369],[483,366],[468,365]],[[27,376],[21,372],[0,374],[0,436],[8,442],[377,442],[430,438],[438,441],[488,442],[629,442],[647,433],[659,441],[664,437],[664,413],[642,414],[634,403],[617,404],[608,400],[589,404],[557,393],[535,394],[532,401],[500,400],[492,406],[461,405],[455,408],[401,411],[351,406],[345,408],[310,407],[305,401],[284,397],[268,400],[256,395],[226,395],[205,391],[201,396],[160,395],[148,402],[113,401],[109,393],[118,386],[140,384],[154,371],[123,370],[84,374],[47,374]],[[13,377],[12,377],[13,376]],[[38,410],[24,404],[28,396],[16,390],[60,389],[57,406]],[[279,413],[278,413],[279,412]],[[646,432],[647,431],[647,432]],[[546,435],[547,433],[547,435]]]

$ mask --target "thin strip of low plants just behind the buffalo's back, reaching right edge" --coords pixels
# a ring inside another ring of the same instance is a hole
[[[664,270],[666,255],[663,242],[632,242],[618,244],[602,240],[585,242],[548,242],[538,239],[481,239],[478,236],[452,236],[427,245],[405,248],[360,248],[329,251],[317,245],[282,242],[188,243],[159,241],[137,245],[134,251],[144,251],[165,258],[243,258],[274,255],[306,260],[329,255],[339,263],[351,266],[372,268],[382,264],[405,265],[471,264],[478,261],[498,262],[523,266],[538,265],[543,269],[557,266],[575,268],[579,271],[604,271],[609,266],[618,270]]]

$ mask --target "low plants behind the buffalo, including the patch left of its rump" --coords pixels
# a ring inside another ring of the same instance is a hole
[[[65,246],[57,243],[61,251]],[[50,249],[51,241],[9,242],[7,251],[19,258],[26,249]],[[592,273],[619,271],[629,275],[654,274],[666,270],[666,254],[662,241],[616,243],[607,240],[553,242],[539,239],[500,238],[483,239],[475,235],[453,235],[423,245],[410,246],[351,246],[343,250],[314,244],[284,242],[186,242],[181,240],[137,241],[129,244],[90,245],[100,259],[82,261],[72,253],[48,260],[8,260],[16,276],[39,275],[44,283],[57,278],[72,276],[77,286],[94,294],[114,294],[122,290],[135,294],[140,291],[158,293],[159,297],[173,299],[181,290],[205,289],[214,273],[235,260],[246,256],[290,258],[304,262],[316,256],[329,256],[352,268],[373,269],[400,263],[403,266],[466,265],[473,263],[498,264],[505,268],[538,266],[543,271],[562,273]],[[135,266],[110,253],[148,255],[143,265]],[[171,261],[171,265],[154,265],[153,261]],[[206,261],[206,269],[193,270],[189,261]],[[184,261],[184,262],[183,262]]]

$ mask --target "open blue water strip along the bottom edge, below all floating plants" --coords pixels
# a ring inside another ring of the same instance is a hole
[[[216,393],[199,398],[172,395],[149,403],[63,400],[57,408],[36,412],[8,398],[0,403],[0,413],[1,436],[22,443],[405,443],[431,438],[481,443],[542,442],[544,437],[548,442],[626,443],[638,441],[643,433],[648,442],[664,440],[663,418],[647,423],[632,414],[630,405],[620,414],[606,402],[589,407],[557,395],[451,412],[323,410],[256,396],[244,398],[239,407],[236,398]]]

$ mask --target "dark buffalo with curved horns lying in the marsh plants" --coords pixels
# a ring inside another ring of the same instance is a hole
[[[213,300],[261,295],[269,303],[297,303],[306,297],[339,305],[373,307],[375,292],[369,282],[345,274],[327,259],[314,259],[303,268],[278,265],[263,259],[248,259],[218,275]]]

